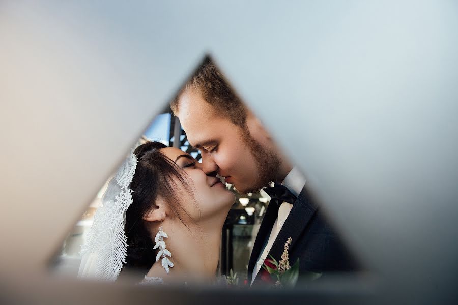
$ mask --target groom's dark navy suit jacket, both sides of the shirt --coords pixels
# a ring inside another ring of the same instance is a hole
[[[272,199],[251,252],[248,264],[249,283],[251,283],[253,269],[277,219],[278,208],[276,199]],[[305,187],[269,251],[277,261],[281,260],[284,244],[289,237],[292,238],[289,248],[290,264],[294,264],[299,258],[299,274],[307,271],[326,273],[359,270],[359,264],[350,255],[332,226],[320,214]],[[262,283],[260,279],[262,271],[263,269],[257,274],[252,285]]]

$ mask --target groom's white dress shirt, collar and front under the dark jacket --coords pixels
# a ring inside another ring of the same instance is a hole
[[[288,173],[288,175],[286,176],[286,178],[284,178],[284,181],[281,182],[281,184],[287,187],[291,191],[291,193],[293,193],[297,197],[305,185],[305,177],[301,174],[297,167],[293,167],[293,169]],[[257,272],[261,270],[264,260],[266,259],[268,252],[272,248],[272,245],[275,239],[277,238],[278,233],[280,232],[285,220],[288,218],[288,215],[290,215],[292,208],[293,205],[288,202],[281,203],[280,207],[278,208],[278,216],[272,226],[272,231],[270,231],[270,236],[269,240],[267,241],[267,245],[264,248],[264,251],[262,252],[259,260],[257,261],[256,266],[254,267],[253,276],[251,277],[251,284],[253,284]]]

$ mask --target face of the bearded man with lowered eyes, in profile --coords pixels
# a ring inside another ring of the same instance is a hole
[[[217,172],[242,193],[256,191],[265,185],[265,177],[260,171],[262,161],[260,156],[255,156],[259,149],[248,145],[240,126],[216,115],[200,93],[186,90],[180,96],[177,116],[189,144],[201,151],[204,172]],[[264,155],[263,152],[260,151],[260,155]]]

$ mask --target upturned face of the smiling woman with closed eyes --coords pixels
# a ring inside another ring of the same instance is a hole
[[[178,148],[166,147],[159,151],[186,172],[184,178],[189,182],[198,206],[195,207],[193,200],[182,202],[182,206],[194,221],[227,215],[228,209],[235,201],[235,195],[226,189],[225,184],[221,183],[219,178],[207,176],[202,170],[201,163],[196,162],[191,155]],[[186,194],[184,186],[181,191],[182,194]]]

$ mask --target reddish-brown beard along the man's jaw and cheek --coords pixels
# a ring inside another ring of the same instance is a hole
[[[280,159],[273,151],[265,149],[258,143],[247,130],[242,132],[242,138],[256,160],[257,180],[253,185],[243,189],[237,188],[237,190],[244,194],[257,193],[260,189],[270,186],[270,182],[275,180],[275,176],[280,168]]]

